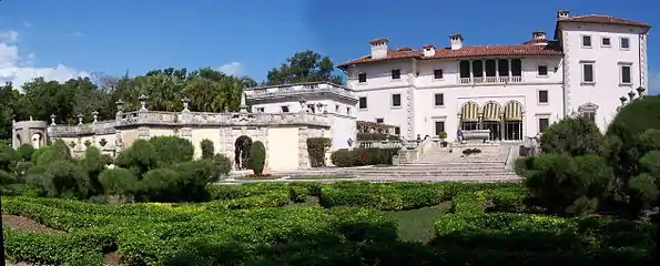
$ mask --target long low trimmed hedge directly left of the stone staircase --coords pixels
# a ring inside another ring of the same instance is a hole
[[[339,149],[331,155],[335,166],[351,167],[363,165],[392,164],[392,157],[398,153],[399,149]]]

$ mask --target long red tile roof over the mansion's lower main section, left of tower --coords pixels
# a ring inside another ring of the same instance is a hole
[[[427,45],[425,45],[426,48]],[[460,59],[460,58],[477,58],[477,57],[522,57],[522,55],[561,55],[561,48],[556,43],[551,42],[548,45],[535,45],[535,44],[505,44],[505,45],[474,45],[464,47],[457,50],[449,48],[436,49],[434,57],[424,57],[422,50],[416,51],[402,51],[389,50],[387,51],[387,58],[384,59],[372,59],[370,55],[365,55],[359,59],[351,60],[337,65],[339,69],[347,69],[352,64],[362,64],[370,62],[382,62],[396,59]]]

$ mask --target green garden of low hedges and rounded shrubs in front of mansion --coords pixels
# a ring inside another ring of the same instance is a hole
[[[516,162],[520,183],[214,185],[232,162],[209,142],[201,158],[177,137],[116,158],[74,158],[59,141],[1,146],[4,254],[47,265],[651,265],[658,106],[632,101],[606,133],[578,116],[552,124],[542,152]],[[325,140],[311,142],[311,157],[325,154]],[[347,164],[389,156],[348,152]]]

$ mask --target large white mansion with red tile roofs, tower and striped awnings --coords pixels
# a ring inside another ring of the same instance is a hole
[[[576,113],[605,130],[622,102],[646,93],[649,30],[560,10],[554,40],[538,31],[521,44],[467,45],[451,34],[447,48],[393,49],[379,38],[370,54],[338,68],[358,98],[358,120],[408,139],[488,129],[493,140],[519,141]]]

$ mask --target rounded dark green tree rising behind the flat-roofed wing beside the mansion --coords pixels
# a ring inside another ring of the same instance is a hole
[[[333,74],[334,63],[326,57],[312,50],[297,52],[286,59],[278,69],[268,71],[268,85],[291,84],[298,82],[328,81],[343,84],[341,75]]]

